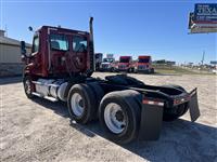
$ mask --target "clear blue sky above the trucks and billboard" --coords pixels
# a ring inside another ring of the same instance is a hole
[[[213,0],[0,1],[0,27],[7,26],[8,36],[18,40],[31,42],[28,26],[88,30],[91,15],[95,52],[199,63],[205,51],[205,63],[217,59],[216,33],[188,35],[188,14],[194,3]]]

